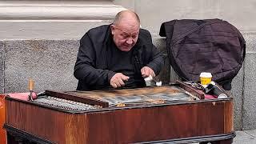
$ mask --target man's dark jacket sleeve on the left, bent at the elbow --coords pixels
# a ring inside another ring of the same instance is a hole
[[[95,68],[96,51],[89,35],[86,33],[80,40],[77,61],[74,66],[74,77],[88,86],[109,85],[115,74],[110,70]]]

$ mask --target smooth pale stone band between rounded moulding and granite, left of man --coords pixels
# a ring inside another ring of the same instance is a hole
[[[0,22],[1,40],[80,39],[93,27],[110,21],[90,22]]]

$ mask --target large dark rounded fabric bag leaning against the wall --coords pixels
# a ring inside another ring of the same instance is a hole
[[[246,42],[229,22],[220,19],[183,19],[162,23],[160,36],[175,72],[186,81],[199,81],[210,72],[225,90],[242,67]]]

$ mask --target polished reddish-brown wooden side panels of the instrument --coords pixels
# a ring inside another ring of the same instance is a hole
[[[57,143],[130,143],[233,131],[232,98],[70,114],[6,99],[6,124]]]

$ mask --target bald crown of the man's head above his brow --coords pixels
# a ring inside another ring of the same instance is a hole
[[[134,13],[131,10],[122,10],[120,11],[114,18],[114,25],[122,24],[123,22],[130,22],[137,25],[140,25],[140,19],[138,18],[138,14]]]

